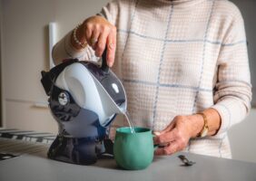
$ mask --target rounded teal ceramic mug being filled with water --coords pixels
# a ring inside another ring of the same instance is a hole
[[[128,170],[148,167],[153,161],[153,134],[151,129],[129,127],[116,129],[113,157],[118,166]]]

